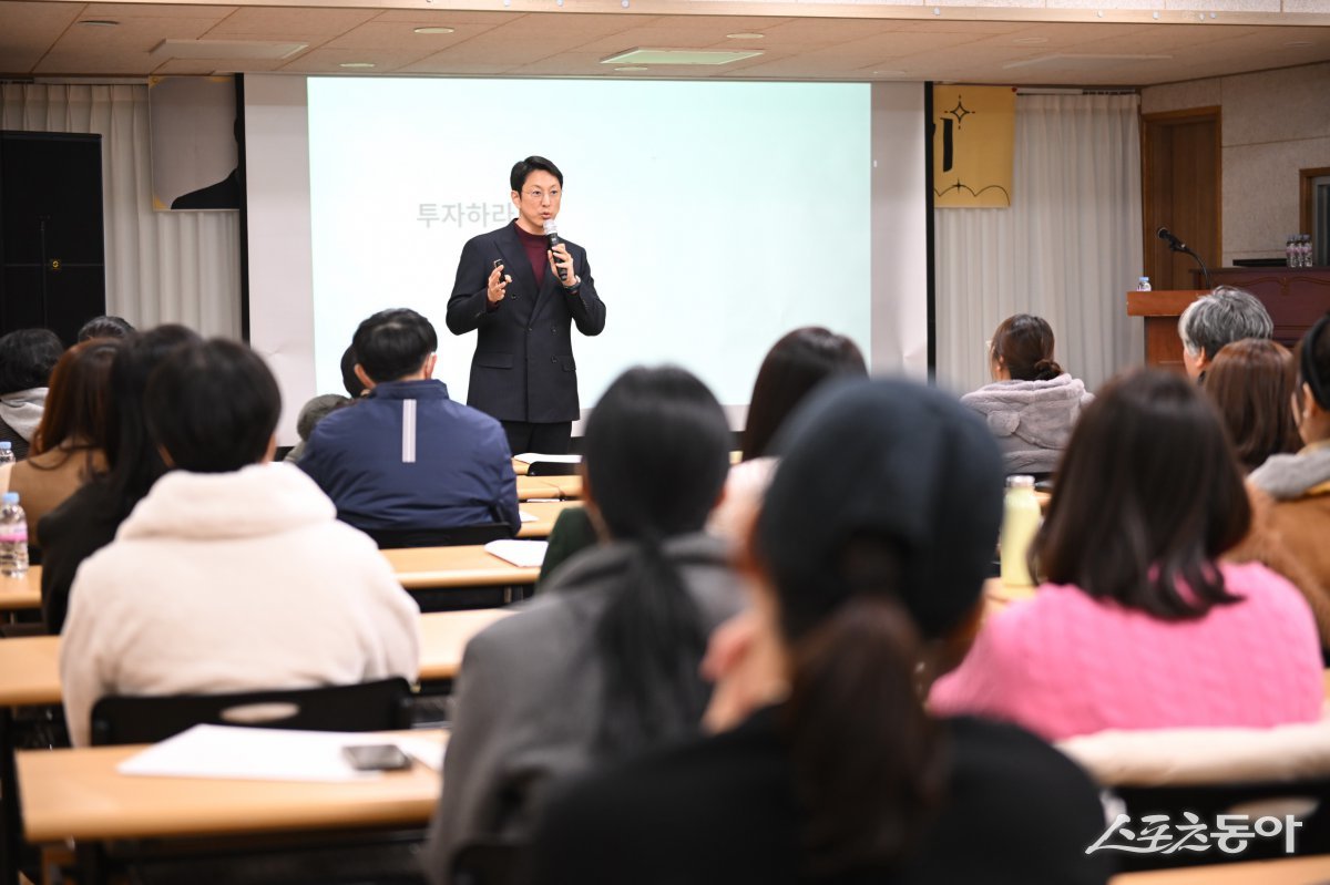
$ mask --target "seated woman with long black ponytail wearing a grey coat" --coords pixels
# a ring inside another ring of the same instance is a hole
[[[726,543],[702,532],[729,446],[724,411],[684,369],[629,369],[601,397],[583,465],[602,542],[467,646],[431,881],[471,840],[527,836],[557,779],[697,731],[706,638],[742,602]]]

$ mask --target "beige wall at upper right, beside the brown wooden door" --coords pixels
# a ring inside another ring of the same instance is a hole
[[[1283,258],[1298,170],[1330,166],[1330,64],[1141,90],[1144,114],[1206,106],[1221,109],[1224,263]]]

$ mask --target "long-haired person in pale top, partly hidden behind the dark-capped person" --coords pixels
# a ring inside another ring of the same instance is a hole
[[[859,347],[821,326],[797,328],[773,344],[749,397],[743,457],[730,468],[725,497],[712,513],[708,530],[734,542],[746,537],[775,469],[771,440],[785,419],[822,381],[867,373]]]

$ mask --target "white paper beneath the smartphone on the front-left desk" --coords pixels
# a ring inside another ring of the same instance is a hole
[[[420,741],[423,739],[407,739]],[[382,776],[351,768],[342,748],[395,743],[396,735],[194,726],[120,763],[121,775],[233,780],[351,781]],[[415,752],[403,747],[403,751]],[[434,755],[442,759],[439,744]]]

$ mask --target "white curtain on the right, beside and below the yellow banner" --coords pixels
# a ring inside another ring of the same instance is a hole
[[[991,379],[986,342],[1012,314],[1053,327],[1056,359],[1095,389],[1142,360],[1127,291],[1141,275],[1136,96],[1020,96],[1009,209],[938,209],[938,383]]]

